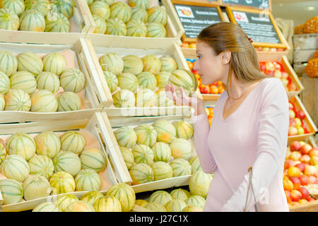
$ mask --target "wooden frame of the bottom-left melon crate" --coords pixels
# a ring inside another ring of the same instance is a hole
[[[0,125],[0,138],[5,139],[8,136],[11,136],[12,133],[22,132],[30,133],[31,136],[41,133],[43,131],[54,131],[55,133],[64,133],[69,130],[81,131],[82,129],[89,133],[88,137],[93,137],[96,145],[98,144],[99,148],[105,153],[107,159],[107,167],[102,172],[99,172],[100,179],[102,182],[101,192],[106,194],[107,189],[110,188],[113,184],[120,182],[119,177],[114,173],[112,164],[109,160],[109,153],[105,150],[103,145],[102,138],[105,135],[100,134],[103,132],[104,121],[101,117],[98,117],[100,112],[96,113],[90,119],[81,119],[81,120],[68,120],[68,121],[45,121],[45,122],[32,122],[32,123],[23,123],[23,124],[1,124]],[[104,126],[105,127],[105,126]],[[93,141],[93,142],[94,142]],[[87,143],[86,143],[87,145]],[[90,143],[91,145],[91,143]],[[95,145],[94,145],[95,146]],[[87,191],[74,191],[68,194],[73,194],[80,198]],[[35,208],[40,203],[45,201],[55,201],[57,197],[61,194],[48,196],[45,198],[36,198],[30,201],[23,201],[20,203],[13,203],[8,205],[3,205],[2,209],[4,212],[16,212],[23,210],[31,210]]]

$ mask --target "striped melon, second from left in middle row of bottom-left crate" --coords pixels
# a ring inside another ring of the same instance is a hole
[[[40,175],[49,179],[54,173],[54,165],[52,160],[46,155],[35,155],[28,162],[30,174]]]

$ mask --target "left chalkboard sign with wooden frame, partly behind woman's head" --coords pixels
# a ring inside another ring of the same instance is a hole
[[[177,16],[184,28],[184,35],[182,36],[184,42],[195,42],[196,36],[199,35],[201,30],[213,23],[223,21],[219,6],[202,6],[202,4],[196,6],[189,2],[180,4],[180,1],[172,1],[172,4],[174,4]]]

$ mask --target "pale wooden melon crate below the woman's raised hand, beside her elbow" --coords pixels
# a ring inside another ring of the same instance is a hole
[[[114,148],[114,153],[117,153],[118,158],[122,157],[121,151],[119,150],[119,144],[114,136],[114,131],[119,129],[122,126],[129,126],[135,128],[140,124],[153,124],[157,119],[165,119],[167,121],[179,121],[184,120],[192,124],[190,117],[185,117],[184,115],[170,115],[170,116],[157,116],[157,117],[108,117],[105,120],[107,129],[109,131],[110,139],[112,140],[112,146]],[[189,140],[192,143],[192,156],[196,155],[194,138]],[[122,165],[122,168],[128,172],[126,165]],[[154,182],[148,182],[144,184],[132,185],[136,193],[143,191],[153,191],[155,189],[167,189],[174,186],[186,186],[189,184],[189,179],[191,175],[181,176],[181,177],[172,177],[169,179],[162,179]]]

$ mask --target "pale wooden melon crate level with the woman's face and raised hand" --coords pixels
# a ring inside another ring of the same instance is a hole
[[[103,75],[102,68],[100,66],[100,63],[98,59],[108,53],[108,52],[115,52],[119,54],[120,57],[124,57],[129,54],[134,54],[139,57],[146,56],[147,54],[154,54],[155,56],[162,57],[162,56],[170,56],[175,59],[177,62],[177,66],[179,69],[187,69],[189,70],[189,67],[187,66],[187,61],[184,59],[181,50],[179,49],[179,46],[177,44],[167,44],[167,45],[161,45],[160,47],[156,46],[153,47],[153,45],[143,45],[143,48],[140,48],[139,45],[136,47],[131,43],[117,43],[112,46],[109,46],[107,43],[107,40],[103,41],[98,39],[95,39],[95,37],[90,37],[90,39],[86,39],[86,42],[88,44],[88,47],[90,49],[90,56],[92,58],[92,61],[94,62],[95,71],[98,72],[99,80],[105,81],[105,76]],[[105,81],[106,83],[106,81]],[[110,90],[108,86],[103,86],[105,93],[111,96],[112,100],[112,94],[117,92],[114,91],[114,93],[110,94]],[[108,96],[107,95],[107,96]],[[199,89],[196,91],[196,95],[198,97],[201,97],[201,94],[199,93]],[[113,100],[112,100],[113,101]],[[192,108],[189,106],[174,106],[174,107],[126,107],[126,108],[118,108],[114,107],[114,105],[104,107],[102,109],[103,111],[107,112],[109,116],[112,117],[130,117],[130,116],[155,116],[155,115],[165,115],[165,114],[191,114]]]

